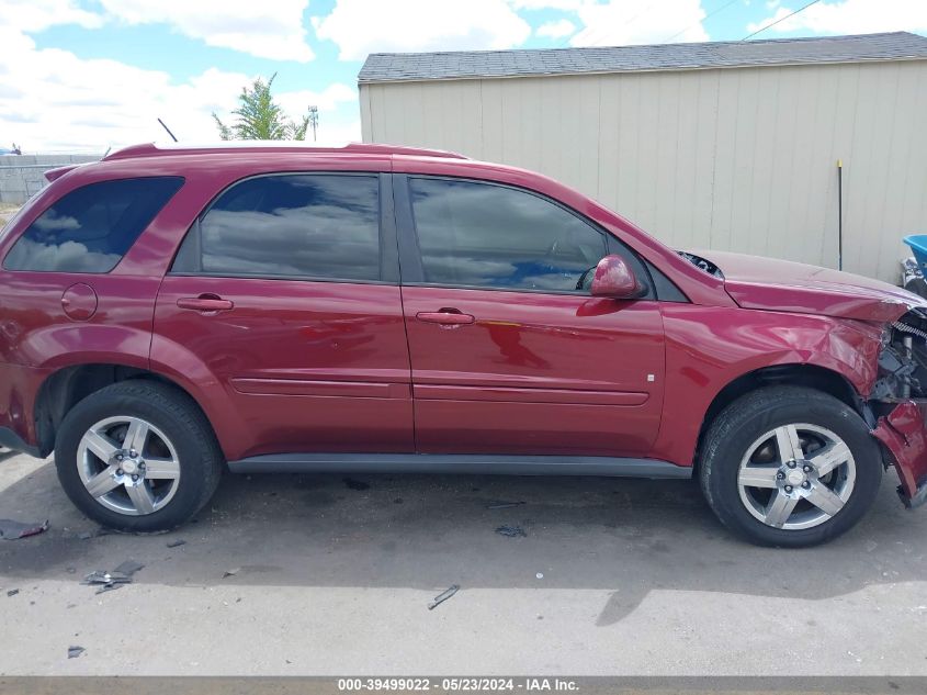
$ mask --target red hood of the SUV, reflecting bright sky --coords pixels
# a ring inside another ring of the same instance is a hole
[[[927,306],[907,290],[849,272],[727,251],[692,254],[717,266],[724,289],[744,309],[884,323]]]

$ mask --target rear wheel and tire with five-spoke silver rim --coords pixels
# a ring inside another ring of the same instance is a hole
[[[189,395],[132,380],[71,408],[58,428],[55,467],[68,497],[88,517],[144,533],[174,528],[202,509],[218,486],[223,457]]]

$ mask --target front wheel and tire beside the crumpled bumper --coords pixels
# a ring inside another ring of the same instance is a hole
[[[699,466],[705,500],[727,528],[759,546],[788,548],[852,528],[875,500],[883,471],[879,445],[856,411],[801,386],[759,389],[724,408]]]

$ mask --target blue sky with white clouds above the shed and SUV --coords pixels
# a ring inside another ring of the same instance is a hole
[[[807,0],[0,0],[0,147],[102,153],[216,138],[256,76],[278,74],[319,142],[360,139],[369,53],[738,41]],[[761,36],[927,34],[927,0],[819,0]]]

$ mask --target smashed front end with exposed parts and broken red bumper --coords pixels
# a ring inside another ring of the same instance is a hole
[[[927,502],[927,309],[914,307],[889,324],[879,375],[868,402],[881,441],[901,479],[907,507]]]

